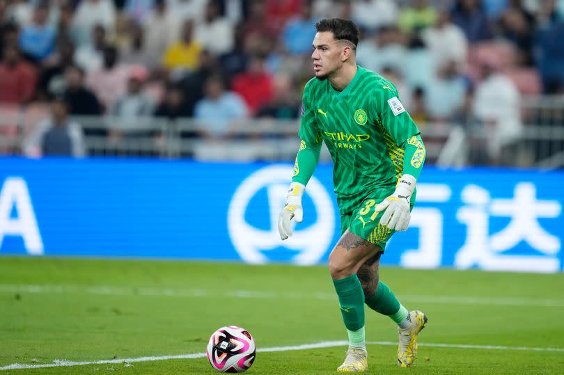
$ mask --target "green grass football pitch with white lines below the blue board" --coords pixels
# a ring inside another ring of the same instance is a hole
[[[368,373],[564,373],[564,274],[380,277],[429,321],[400,369],[395,325],[366,310]],[[335,374],[345,356],[325,266],[0,257],[0,375],[216,374],[203,353],[226,325],[256,340],[247,374]]]

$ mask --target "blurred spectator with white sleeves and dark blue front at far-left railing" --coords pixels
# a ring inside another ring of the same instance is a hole
[[[68,118],[65,101],[55,98],[51,111],[52,115],[39,122],[33,133],[24,141],[24,154],[29,157],[84,157],[86,147],[81,125]]]

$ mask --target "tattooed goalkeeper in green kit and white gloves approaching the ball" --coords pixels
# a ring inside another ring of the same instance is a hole
[[[329,255],[329,272],[349,337],[347,356],[337,371],[368,368],[365,303],[398,325],[398,365],[410,367],[427,317],[398,301],[379,280],[378,267],[386,242],[409,225],[425,147],[393,84],[357,65],[357,26],[345,19],[322,19],[315,29],[315,78],[304,88],[301,145],[279,216],[280,236],[292,235],[292,218],[301,222],[301,196],[324,141],[334,161],[342,233]]]

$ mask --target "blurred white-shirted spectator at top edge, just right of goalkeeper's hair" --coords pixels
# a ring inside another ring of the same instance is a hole
[[[394,0],[353,0],[352,20],[361,29],[373,32],[382,26],[395,24],[398,6]]]

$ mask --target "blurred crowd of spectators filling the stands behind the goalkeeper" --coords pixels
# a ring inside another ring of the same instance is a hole
[[[25,154],[77,156],[68,115],[113,116],[110,141],[152,115],[207,138],[297,119],[323,17],[359,25],[359,65],[423,132],[478,120],[492,160],[522,134],[522,95],[564,93],[564,0],[0,0],[0,113],[36,119]]]

